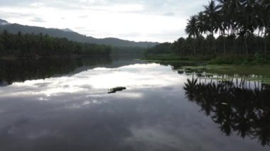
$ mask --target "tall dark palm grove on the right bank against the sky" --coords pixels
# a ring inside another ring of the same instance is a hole
[[[166,53],[182,56],[269,53],[269,0],[217,0],[203,7],[204,11],[188,19],[188,38],[157,45],[146,53],[164,53],[162,47]]]

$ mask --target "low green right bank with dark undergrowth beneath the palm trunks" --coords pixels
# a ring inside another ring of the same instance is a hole
[[[261,56],[180,57],[173,54],[147,56],[144,60],[171,65],[178,72],[236,75],[270,84],[270,62]],[[188,64],[188,65],[186,65]]]

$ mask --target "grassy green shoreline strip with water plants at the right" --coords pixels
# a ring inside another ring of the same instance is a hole
[[[172,58],[173,57],[173,58]],[[239,56],[237,56],[239,57]],[[155,59],[156,58],[156,59]],[[264,84],[270,84],[270,63],[259,64],[217,64],[211,62],[211,57],[180,57],[172,55],[152,55],[144,57],[144,61],[156,62],[161,65],[171,65],[174,70],[186,73],[226,74],[229,77],[236,75],[249,80],[260,80]],[[215,58],[214,58],[215,59]]]

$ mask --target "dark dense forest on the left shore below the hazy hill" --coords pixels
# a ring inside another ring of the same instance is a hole
[[[68,55],[110,55],[112,47],[77,43],[49,35],[0,33],[0,55],[13,57],[54,57]]]

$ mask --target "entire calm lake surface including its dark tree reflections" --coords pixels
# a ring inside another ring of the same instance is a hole
[[[0,65],[3,151],[270,149],[259,81],[121,57]]]

